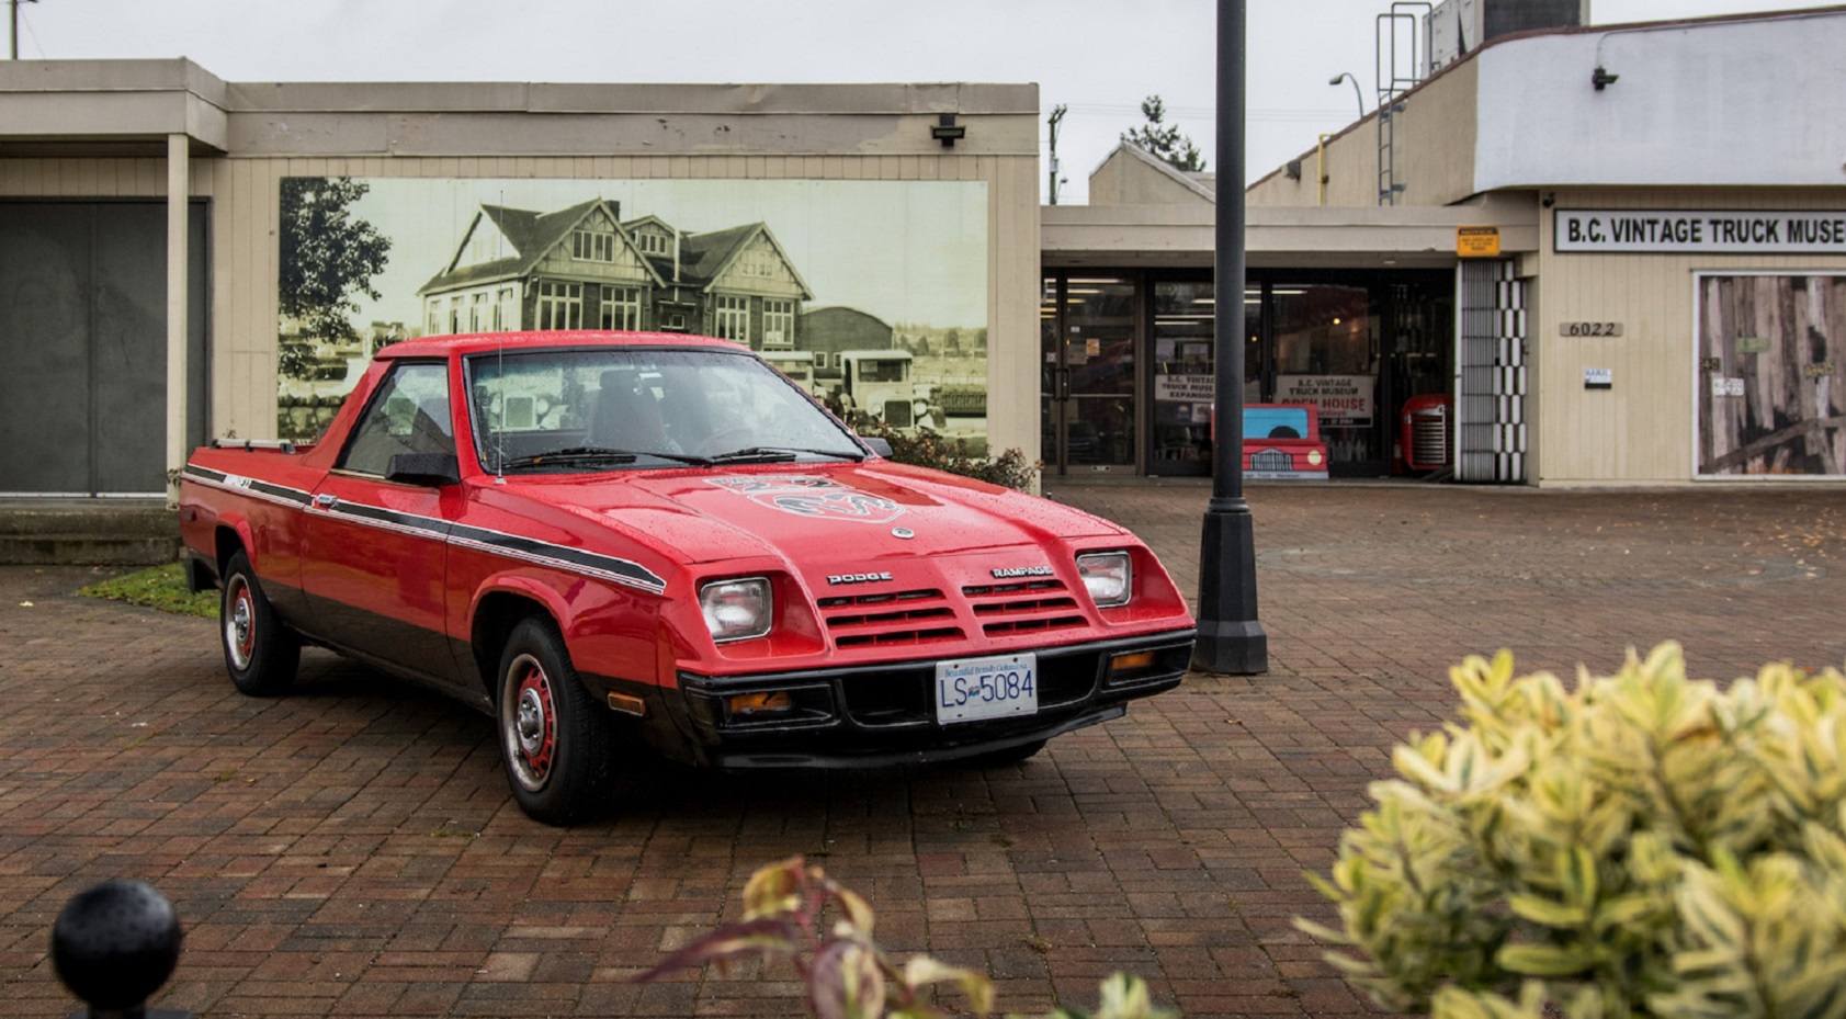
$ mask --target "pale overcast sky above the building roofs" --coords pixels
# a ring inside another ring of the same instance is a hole
[[[1375,103],[1390,2],[1246,2],[1253,179],[1359,116],[1337,74]],[[1833,2],[1591,0],[1591,22]],[[1148,94],[1217,168],[1215,17],[1213,0],[31,0],[18,54],[183,55],[227,81],[1032,81],[1045,114],[1071,107],[1060,201],[1080,203]]]

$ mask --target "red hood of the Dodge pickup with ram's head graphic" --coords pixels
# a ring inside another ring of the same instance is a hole
[[[533,482],[522,486],[533,498],[655,545],[685,565],[753,556],[844,565],[1126,533],[1049,498],[890,462]]]

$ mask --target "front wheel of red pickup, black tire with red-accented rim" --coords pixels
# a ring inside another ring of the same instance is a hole
[[[495,683],[500,762],[532,820],[572,825],[609,809],[613,735],[550,618],[513,628]]]

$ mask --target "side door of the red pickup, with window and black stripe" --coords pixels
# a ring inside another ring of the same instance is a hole
[[[308,504],[301,587],[329,641],[456,683],[445,567],[462,493],[384,480],[399,452],[454,452],[445,362],[402,362],[378,384]]]

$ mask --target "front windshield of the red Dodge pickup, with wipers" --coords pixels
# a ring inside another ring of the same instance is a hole
[[[467,384],[476,452],[493,473],[672,467],[768,447],[796,460],[864,456],[807,393],[744,353],[476,354],[467,360]],[[585,449],[609,456],[554,456]]]

